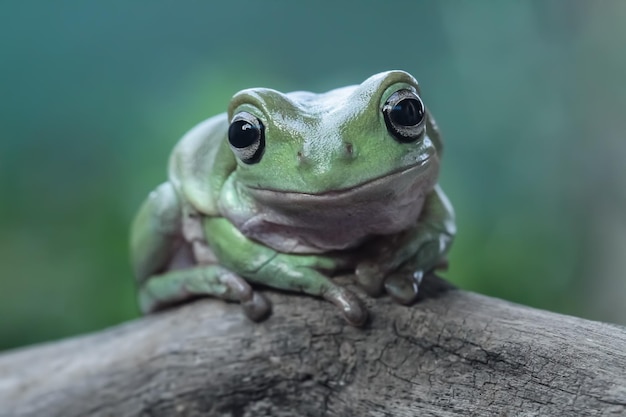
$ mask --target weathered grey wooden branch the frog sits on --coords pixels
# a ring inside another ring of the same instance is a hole
[[[424,284],[364,299],[365,329],[268,292],[245,319],[203,300],[0,356],[1,416],[626,415],[626,329]]]

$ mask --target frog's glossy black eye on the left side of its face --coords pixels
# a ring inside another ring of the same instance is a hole
[[[265,128],[263,123],[248,112],[237,113],[228,128],[228,142],[242,162],[259,162],[265,149]]]

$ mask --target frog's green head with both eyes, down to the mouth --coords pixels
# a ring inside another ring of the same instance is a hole
[[[439,138],[417,81],[403,71],[323,94],[243,90],[228,118],[238,182],[266,199],[357,190],[380,197],[437,176]]]

